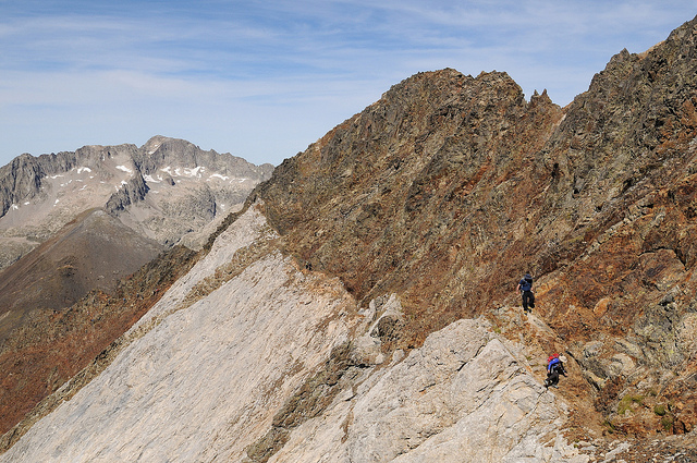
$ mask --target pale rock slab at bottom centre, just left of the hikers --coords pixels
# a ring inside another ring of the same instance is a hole
[[[585,462],[565,406],[486,325],[460,320],[305,423],[270,462]]]

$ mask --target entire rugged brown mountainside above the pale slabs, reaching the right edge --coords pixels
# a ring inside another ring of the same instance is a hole
[[[693,20],[614,57],[563,110],[545,94],[526,102],[502,73],[418,74],[283,162],[255,197],[308,268],[364,303],[400,295],[398,346],[477,315],[526,336],[497,309],[517,304],[531,271],[554,336],[529,341],[574,358],[582,425],[689,431],[696,50]],[[629,400],[636,413],[627,397],[643,398]]]

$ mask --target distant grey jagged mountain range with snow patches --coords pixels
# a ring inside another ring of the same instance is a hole
[[[22,155],[0,168],[0,268],[95,207],[164,246],[200,246],[272,170],[162,136]]]

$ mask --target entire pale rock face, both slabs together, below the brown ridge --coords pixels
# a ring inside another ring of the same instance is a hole
[[[386,358],[376,328],[400,319],[399,300],[358,312],[277,239],[250,207],[113,363],[0,462],[258,461],[248,450],[346,342],[357,373],[269,462],[587,461],[561,436],[563,402],[486,321],[456,321]]]

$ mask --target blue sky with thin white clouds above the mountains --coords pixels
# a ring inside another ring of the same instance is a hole
[[[694,1],[0,0],[0,166],[154,135],[279,165],[419,71],[568,103]]]

